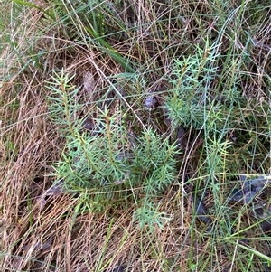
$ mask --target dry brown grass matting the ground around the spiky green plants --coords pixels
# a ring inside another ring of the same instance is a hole
[[[46,7],[45,2],[36,5]],[[125,42],[116,42],[113,38],[111,42],[118,52],[132,61],[144,63],[144,70],[152,71],[148,74],[150,78],[146,89],[129,108],[140,118],[136,103],[149,90],[160,89],[164,85],[164,75],[170,72],[168,67],[173,54],[168,57],[168,52],[189,52],[192,43],[201,41],[201,32],[188,3],[184,3],[183,9],[187,9],[190,20],[182,18],[182,28],[176,26],[177,33],[174,35],[179,35],[179,38],[176,40],[173,35],[164,42],[149,33],[161,31],[154,22],[168,16],[171,8],[157,12],[153,10],[151,2],[145,4],[142,1],[126,8],[127,11],[130,8],[137,10],[139,21],[143,24]],[[195,10],[197,13],[208,13],[211,8],[200,1]],[[47,194],[55,181],[51,175],[51,165],[60,159],[65,145],[59,127],[51,124],[48,114],[46,98],[50,95],[50,89],[46,89],[46,82],[50,80],[50,71],[63,67],[65,72],[76,75],[74,84],[77,86],[83,85],[84,75],[91,73],[95,79],[91,85],[92,92],[101,97],[103,93],[99,91],[107,86],[108,77],[123,72],[123,69],[104,52],[98,52],[97,48],[69,41],[65,37],[66,30],[58,26],[50,27],[47,33],[37,36],[36,33],[44,26],[39,24],[42,13],[31,9],[22,16],[25,16],[22,18],[22,28],[20,32],[14,32],[20,37],[17,49],[22,59],[18,58],[11,46],[6,46],[2,52],[5,67],[1,68],[1,74],[9,80],[1,82],[0,87],[1,271],[98,272],[110,271],[118,265],[124,265],[126,271],[191,271],[192,263],[206,265],[208,262],[212,265],[212,271],[226,271],[226,267],[238,271],[238,265],[230,259],[232,255],[229,252],[229,249],[238,249],[235,246],[224,248],[221,244],[214,245],[213,237],[205,236],[201,227],[198,229],[192,223],[192,207],[189,198],[185,199],[182,195],[182,186],[177,191],[169,189],[161,198],[164,211],[172,218],[163,230],[157,228],[154,233],[138,228],[133,221],[133,206],[127,207],[126,211],[112,209],[103,214],[79,214],[79,196],[69,193]],[[125,20],[129,21],[127,18]],[[202,20],[208,23],[204,18]],[[149,24],[145,27],[144,23]],[[173,29],[175,25],[168,27]],[[261,67],[270,74],[270,25],[263,24],[261,29],[257,41],[262,41],[265,48],[257,43],[254,61],[262,63]],[[82,36],[85,34],[79,26],[76,31],[81,32]],[[185,42],[180,42],[182,39]],[[41,63],[46,61],[44,70],[39,70],[31,63],[23,68],[23,61],[29,61],[27,56],[30,48],[26,41],[33,41],[30,43],[35,52],[48,52],[41,59]],[[164,47],[165,43],[168,46]],[[224,44],[221,51],[224,51],[224,46],[227,47]],[[267,98],[268,87],[261,80],[262,71],[256,70],[252,74],[248,70],[248,74],[248,81],[244,80],[241,87],[246,95],[252,92],[258,100]],[[257,89],[261,91],[257,92]],[[82,93],[82,97],[89,101],[91,98],[85,95]],[[91,107],[86,105],[82,116],[87,116],[93,110]],[[159,127],[157,124],[155,126]],[[163,130],[161,127],[159,129]],[[199,135],[194,136],[193,150],[185,152],[182,169],[193,169],[195,164],[197,167],[193,160],[195,156],[199,158],[197,151],[201,149],[202,143],[201,138],[198,139]],[[257,249],[261,246],[257,244]],[[209,266],[206,265],[206,269]],[[198,269],[201,270],[201,267]]]

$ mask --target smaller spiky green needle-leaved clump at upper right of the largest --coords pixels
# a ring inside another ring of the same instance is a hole
[[[210,80],[216,75],[215,50],[201,50],[183,60],[175,60],[172,71],[172,96],[166,98],[165,108],[175,126],[201,128],[211,108],[208,92]],[[219,108],[214,109],[215,111]]]

